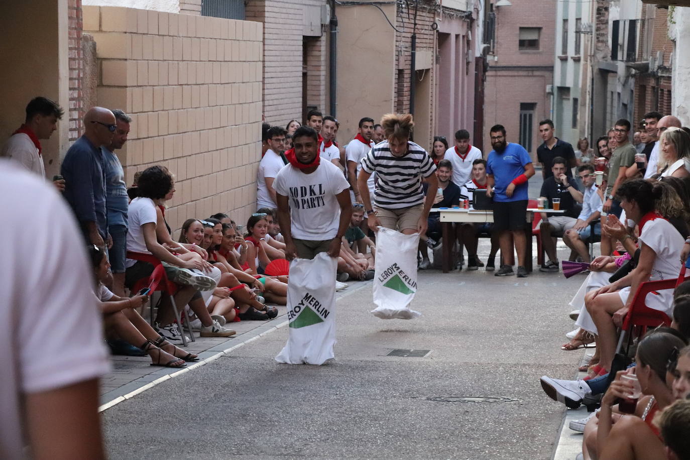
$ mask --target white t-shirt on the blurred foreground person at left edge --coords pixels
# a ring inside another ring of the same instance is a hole
[[[91,263],[66,201],[7,160],[0,160],[0,196],[12,197],[0,200],[7,242],[0,257],[0,457],[14,460],[25,458],[23,395],[95,379],[110,363]]]

